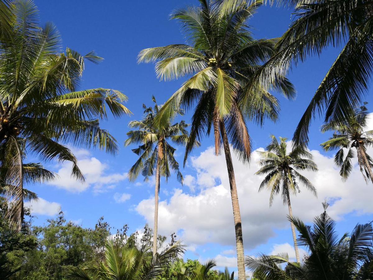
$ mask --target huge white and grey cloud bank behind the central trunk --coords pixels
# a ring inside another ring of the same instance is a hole
[[[342,182],[333,158],[322,155],[317,150],[311,152],[320,171],[303,174],[315,185],[318,197],[312,196],[305,189],[296,197],[293,196],[294,215],[311,221],[315,215],[322,212],[321,203],[325,199],[332,202],[328,212],[335,219],[341,219],[351,212],[373,213],[373,189],[366,185],[357,166],[349,180]],[[275,235],[276,228],[289,227],[286,219],[287,207],[283,206],[281,198],[277,197],[270,208],[269,193],[258,193],[258,186],[263,177],[254,175],[259,168],[256,164],[259,159],[258,153],[254,152],[252,157],[250,166],[233,158],[246,249],[253,249],[259,244],[266,243]],[[168,234],[177,228],[187,244],[201,245],[212,242],[234,245],[232,203],[224,156],[214,156],[214,149],[210,147],[192,158],[191,165],[197,171],[195,188],[200,192],[192,195],[176,189],[169,200],[160,202],[160,234]],[[148,223],[153,220],[153,201],[153,197],[142,200],[136,208]],[[357,201],[359,203],[356,203]]]

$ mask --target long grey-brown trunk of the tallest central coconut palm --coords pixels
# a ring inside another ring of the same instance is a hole
[[[225,131],[225,125],[224,125],[223,120],[220,121],[220,133],[222,134],[222,138],[223,138],[223,147],[224,147],[225,160],[226,160],[227,169],[228,169],[229,185],[231,187],[233,218],[234,218],[235,232],[236,232],[238,280],[245,280],[246,275],[245,275],[245,263],[244,263],[244,242],[242,240],[241,213],[239,211],[236,179],[234,176],[231,150],[229,148],[228,137]]]

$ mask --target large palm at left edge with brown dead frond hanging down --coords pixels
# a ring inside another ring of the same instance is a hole
[[[3,6],[0,9],[1,14]],[[8,169],[5,184],[14,186],[10,220],[19,230],[23,154],[32,152],[42,161],[70,161],[72,176],[84,180],[65,145],[94,146],[115,154],[116,140],[100,128],[100,119],[107,118],[107,109],[115,117],[130,111],[120,91],[77,91],[85,60],[98,63],[101,57],[94,52],[81,56],[69,48],[60,52],[59,32],[51,23],[39,27],[32,1],[13,1],[9,9],[14,15],[11,36],[0,36],[0,166]]]

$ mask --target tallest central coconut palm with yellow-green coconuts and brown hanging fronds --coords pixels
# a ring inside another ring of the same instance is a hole
[[[156,117],[157,121],[162,122],[175,109],[190,109],[196,105],[184,164],[195,146],[195,140],[200,141],[203,134],[209,135],[211,127],[216,154],[223,144],[240,280],[245,279],[244,245],[229,144],[239,159],[248,162],[251,146],[247,119],[263,124],[265,118],[276,120],[278,117],[278,100],[268,89],[281,91],[288,98],[295,97],[294,87],[280,74],[276,74],[266,87],[251,79],[260,65],[275,53],[276,39],[254,40],[246,23],[260,4],[250,5],[242,0],[200,0],[200,6],[186,7],[172,14],[173,19],[182,23],[191,45],[153,47],[139,54],[139,62],[157,61],[156,72],[161,80],[189,76]]]

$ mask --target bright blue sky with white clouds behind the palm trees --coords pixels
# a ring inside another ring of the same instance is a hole
[[[52,21],[56,24],[62,35],[63,48],[69,46],[82,54],[95,50],[104,57],[100,65],[86,63],[82,88],[121,90],[129,97],[127,106],[134,113],[131,117],[102,123],[119,143],[118,156],[105,155],[98,150],[76,150],[80,165],[86,171],[88,184],[85,186],[69,179],[68,165],[46,164],[59,172],[61,178],[54,184],[30,187],[43,199],[33,206],[38,216],[35,223],[43,224],[60,205],[68,220],[78,221],[84,227],[93,227],[101,216],[116,228],[129,224],[130,230],[137,230],[146,222],[152,226],[153,186],[151,182],[143,183],[141,178],[137,183],[126,180],[125,172],[135,162],[136,155],[123,147],[123,141],[128,121],[142,117],[142,103],[150,105],[152,95],[163,103],[183,80],[160,82],[154,65],[137,64],[137,54],[147,47],[185,43],[180,26],[169,20],[169,14],[177,7],[197,4],[197,0],[35,0],[35,3],[40,10],[41,23]],[[258,9],[249,24],[254,28],[256,38],[273,38],[282,35],[290,22],[291,11],[264,6]],[[278,96],[282,111],[276,124],[267,121],[262,128],[249,124],[254,149],[265,147],[270,134],[292,137],[301,115],[337,55],[338,50],[329,48],[322,56],[312,57],[293,69],[289,78],[297,88],[298,97],[289,102]],[[373,104],[371,99],[368,97],[367,101]],[[189,121],[190,113],[184,119]],[[319,188],[319,197],[315,199],[304,190],[299,197],[293,198],[293,211],[309,222],[322,212],[320,202],[329,199],[333,202],[330,212],[338,219],[338,230],[342,234],[351,231],[357,223],[372,220],[372,205],[364,199],[372,197],[373,188],[364,183],[357,170],[352,173],[352,178],[342,183],[330,159],[332,153],[320,150],[319,144],[327,137],[320,133],[320,124],[318,119],[313,123],[309,146],[314,150],[319,166],[324,167],[319,174],[309,175]],[[185,186],[174,178],[168,184],[162,183],[159,230],[165,235],[176,231],[190,245],[188,258],[201,261],[216,258],[219,266],[234,266],[232,250],[235,248],[231,239],[234,228],[229,196],[225,192],[228,190],[225,161],[212,155],[211,145],[211,137],[206,138],[192,154],[194,158],[182,170],[188,175]],[[176,152],[180,161],[183,152],[182,149]],[[239,172],[236,177],[239,177],[245,253],[288,250],[286,243],[292,244],[292,238],[286,209],[280,199],[269,209],[268,193],[257,194],[260,178],[253,175],[257,171],[255,159],[254,155],[250,168],[235,161],[236,173]],[[357,196],[360,193],[363,198]],[[246,227],[245,221],[248,221]]]

